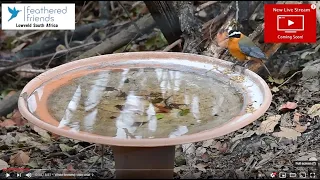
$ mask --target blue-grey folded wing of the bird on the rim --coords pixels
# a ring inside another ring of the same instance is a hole
[[[239,47],[242,53],[258,59],[266,59],[265,54],[257,47],[250,38],[244,36],[239,41]]]

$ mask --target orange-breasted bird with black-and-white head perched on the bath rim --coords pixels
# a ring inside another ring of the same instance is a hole
[[[237,60],[237,62],[232,66],[233,70],[235,69],[235,66],[239,65],[240,63],[242,63],[242,66],[246,68],[247,63],[250,60],[259,60],[259,63],[262,63],[264,68],[268,71],[269,75],[271,75],[270,71],[263,62],[263,60],[267,59],[266,55],[257,45],[254,44],[254,42],[252,42],[252,40],[249,37],[242,34],[238,30],[229,30],[227,38],[228,50],[230,54]]]

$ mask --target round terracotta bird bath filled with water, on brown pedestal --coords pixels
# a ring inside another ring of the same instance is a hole
[[[19,110],[55,134],[110,145],[117,178],[173,178],[175,145],[236,131],[268,109],[263,79],[231,65],[170,52],[91,57],[34,78]]]

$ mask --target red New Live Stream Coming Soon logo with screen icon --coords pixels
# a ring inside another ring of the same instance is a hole
[[[266,43],[315,43],[314,4],[265,4]]]

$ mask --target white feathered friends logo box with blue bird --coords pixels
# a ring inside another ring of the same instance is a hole
[[[74,30],[75,4],[2,3],[3,30]]]

